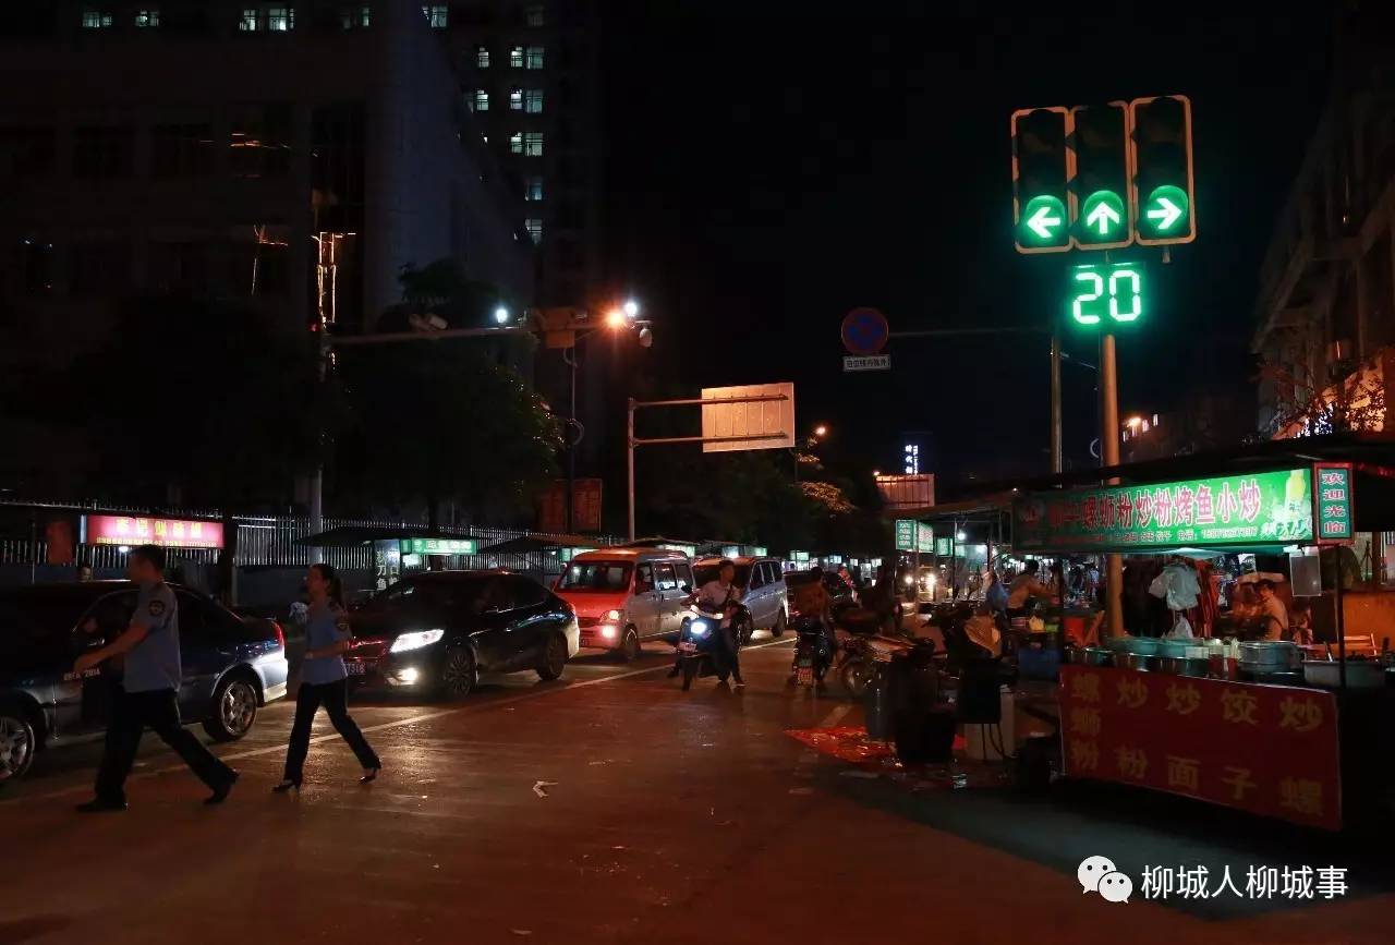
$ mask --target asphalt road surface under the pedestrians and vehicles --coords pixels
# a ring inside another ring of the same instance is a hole
[[[861,710],[790,692],[788,639],[756,645],[745,691],[681,692],[654,646],[455,704],[357,698],[385,765],[370,787],[321,713],[304,791],[269,793],[289,702],[215,748],[243,775],[220,808],[146,736],[131,810],[81,817],[98,747],[50,752],[0,794],[0,945],[1392,941],[1385,839],[1098,786],[1023,798],[850,776],[784,733]],[[1134,882],[1229,867],[1242,891],[1253,865],[1341,865],[1349,889],[1110,903],[1076,879],[1094,854]]]

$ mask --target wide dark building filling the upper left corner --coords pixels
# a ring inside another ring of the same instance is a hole
[[[27,4],[0,78],[0,311],[36,348],[160,288],[371,328],[442,257],[533,299],[523,215],[416,4]]]

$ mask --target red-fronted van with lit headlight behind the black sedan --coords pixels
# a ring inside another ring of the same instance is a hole
[[[576,609],[582,646],[639,657],[640,643],[678,637],[689,620],[688,556],[663,549],[601,549],[578,554],[552,590]]]

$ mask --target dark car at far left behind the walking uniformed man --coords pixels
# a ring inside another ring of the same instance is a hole
[[[180,713],[216,741],[236,741],[251,730],[259,706],[286,695],[286,638],[275,621],[239,617],[195,590],[170,586],[184,663]],[[0,784],[22,776],[38,751],[106,727],[110,671],[80,678],[73,662],[130,625],[135,596],[127,581],[0,590]]]

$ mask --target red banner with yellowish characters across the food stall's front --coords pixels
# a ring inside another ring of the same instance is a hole
[[[1060,667],[1071,777],[1183,794],[1321,826],[1342,826],[1336,698],[1098,666]]]

